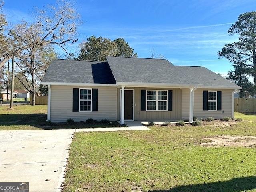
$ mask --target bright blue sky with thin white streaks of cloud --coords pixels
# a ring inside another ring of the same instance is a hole
[[[5,0],[8,22],[31,20],[34,7],[52,1]],[[175,65],[205,66],[226,75],[228,60],[218,60],[224,44],[237,40],[227,30],[243,12],[255,11],[255,0],[78,0],[83,25],[79,42],[91,35],[124,38],[138,57],[155,50]]]

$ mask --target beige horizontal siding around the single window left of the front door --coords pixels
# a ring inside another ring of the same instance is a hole
[[[98,111],[73,112],[73,88],[98,89]],[[92,86],[51,86],[51,122],[66,122],[72,118],[74,121],[86,121],[88,118],[94,120],[116,120],[116,87],[92,87]]]

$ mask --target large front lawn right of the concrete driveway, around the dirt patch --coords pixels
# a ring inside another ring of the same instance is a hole
[[[255,146],[200,145],[214,135],[256,136],[256,116],[235,115],[243,121],[232,126],[76,132],[63,191],[256,192]]]

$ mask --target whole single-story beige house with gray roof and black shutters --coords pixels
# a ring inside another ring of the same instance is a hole
[[[234,92],[241,88],[204,67],[116,56],[107,56],[106,62],[54,60],[41,84],[48,85],[47,120],[122,124],[234,117]]]

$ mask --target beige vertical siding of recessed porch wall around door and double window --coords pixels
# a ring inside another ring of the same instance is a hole
[[[180,88],[139,88],[126,87],[125,89],[134,89],[134,120],[177,120],[181,118],[181,90]],[[172,111],[141,111],[140,96],[141,90],[172,90]],[[118,106],[117,119],[120,114],[120,88],[118,88]]]

